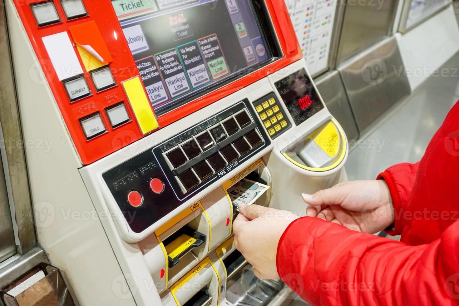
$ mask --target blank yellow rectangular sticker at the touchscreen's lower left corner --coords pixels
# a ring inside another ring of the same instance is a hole
[[[158,128],[159,124],[145,94],[140,78],[131,78],[122,82],[122,84],[142,134],[145,135]]]

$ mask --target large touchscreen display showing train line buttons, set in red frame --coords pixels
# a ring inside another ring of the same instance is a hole
[[[158,115],[273,58],[252,0],[113,0]]]

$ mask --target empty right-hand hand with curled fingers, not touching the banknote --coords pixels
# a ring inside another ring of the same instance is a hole
[[[394,222],[394,208],[384,180],[350,181],[313,195],[303,194],[308,217],[375,234]]]

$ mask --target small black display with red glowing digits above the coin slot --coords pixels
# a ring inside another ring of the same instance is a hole
[[[304,68],[276,82],[275,86],[296,125],[324,108]]]

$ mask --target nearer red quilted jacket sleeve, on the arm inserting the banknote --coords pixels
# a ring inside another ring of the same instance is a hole
[[[277,269],[312,305],[455,305],[457,232],[459,221],[440,239],[410,246],[302,217],[280,239]]]

